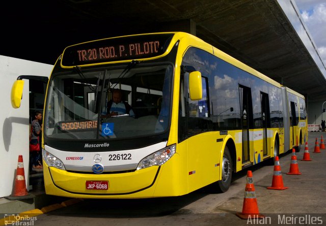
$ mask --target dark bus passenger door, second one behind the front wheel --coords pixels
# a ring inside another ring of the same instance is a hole
[[[261,118],[262,118],[262,126],[263,126],[263,155],[267,155],[267,150],[268,150],[267,130],[270,127],[268,94],[264,92],[260,92],[260,100],[261,100]]]

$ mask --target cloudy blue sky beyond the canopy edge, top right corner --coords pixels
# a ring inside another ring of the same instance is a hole
[[[326,64],[326,0],[295,0],[295,3]]]

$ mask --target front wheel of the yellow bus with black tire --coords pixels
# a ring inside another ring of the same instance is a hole
[[[216,189],[219,192],[226,192],[231,184],[232,180],[232,172],[233,172],[233,165],[232,165],[232,158],[228,147],[225,147],[223,160],[222,160],[222,180],[216,182]]]

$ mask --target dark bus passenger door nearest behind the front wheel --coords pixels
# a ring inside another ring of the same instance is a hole
[[[242,124],[242,164],[250,162],[249,128],[252,115],[251,88],[239,85]]]

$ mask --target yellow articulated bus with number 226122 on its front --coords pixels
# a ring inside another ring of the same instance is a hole
[[[23,80],[12,89],[20,105]],[[119,88],[133,114],[107,116]],[[48,195],[182,196],[307,140],[303,95],[195,36],[156,33],[67,47],[48,80]]]

